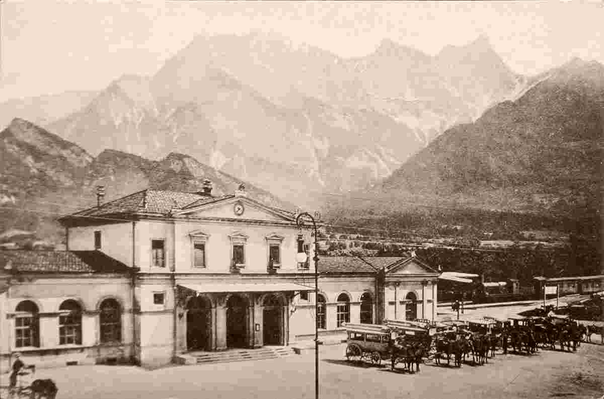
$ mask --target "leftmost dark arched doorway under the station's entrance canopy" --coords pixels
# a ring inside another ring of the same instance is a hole
[[[212,304],[196,296],[187,304],[187,350],[208,351],[211,348]]]

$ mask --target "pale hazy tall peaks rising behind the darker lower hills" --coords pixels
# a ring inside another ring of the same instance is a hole
[[[198,36],[155,75],[124,75],[43,126],[91,155],[186,153],[299,200],[390,176],[528,81],[484,36],[435,56],[386,39],[353,59],[275,34]]]

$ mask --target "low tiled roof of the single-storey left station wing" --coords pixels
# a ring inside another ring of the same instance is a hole
[[[100,251],[0,251],[0,268],[36,273],[123,273],[130,270]]]

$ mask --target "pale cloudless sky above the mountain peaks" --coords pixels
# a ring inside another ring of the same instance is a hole
[[[154,74],[198,34],[259,30],[342,57],[385,38],[437,54],[486,34],[527,75],[572,57],[604,63],[604,0],[0,0],[0,101],[101,90],[123,74]]]

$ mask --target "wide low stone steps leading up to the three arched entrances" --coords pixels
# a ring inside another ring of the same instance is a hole
[[[245,362],[246,360],[278,359],[294,355],[294,350],[289,346],[265,346],[259,349],[237,349],[223,352],[196,352],[188,353],[187,359],[181,364],[210,364]],[[181,356],[181,359],[184,356]],[[180,362],[179,362],[180,363]]]

